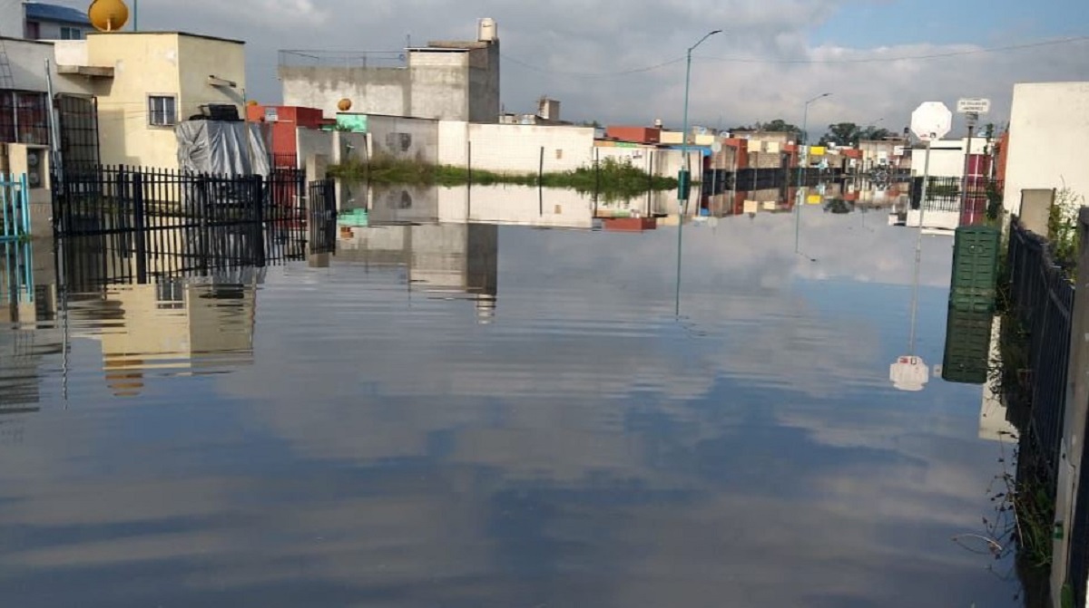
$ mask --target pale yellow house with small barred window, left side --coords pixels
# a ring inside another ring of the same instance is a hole
[[[98,97],[102,164],[178,167],[174,126],[201,106],[245,102],[245,44],[181,32],[96,33],[58,42],[63,78]]]

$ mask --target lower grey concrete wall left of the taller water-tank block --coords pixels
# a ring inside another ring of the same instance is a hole
[[[337,102],[352,100],[353,112],[404,115],[412,107],[406,67],[295,67],[280,66],[284,106],[320,108],[327,116],[340,110]]]

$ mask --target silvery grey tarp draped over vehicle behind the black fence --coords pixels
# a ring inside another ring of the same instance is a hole
[[[174,133],[178,135],[178,164],[183,172],[230,176],[269,174],[269,150],[259,125],[241,121],[184,121]]]

